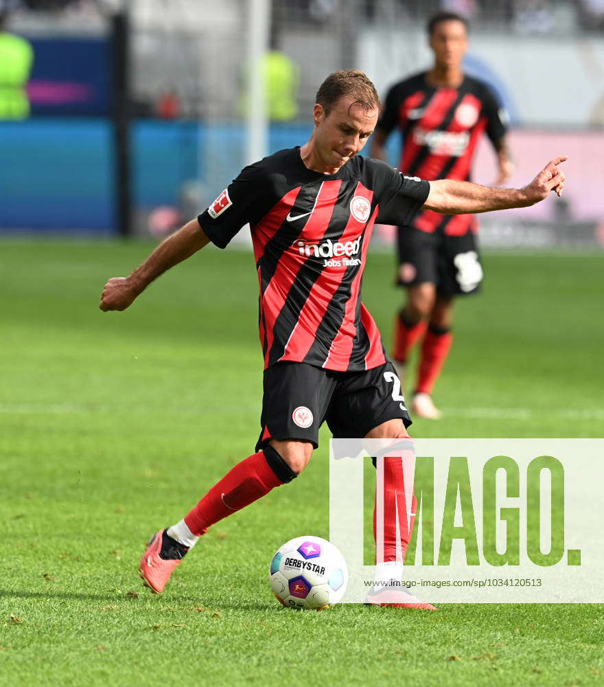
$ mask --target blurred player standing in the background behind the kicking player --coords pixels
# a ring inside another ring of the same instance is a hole
[[[385,159],[386,139],[398,127],[404,174],[468,181],[476,146],[486,133],[498,160],[496,185],[502,185],[513,169],[505,138],[507,116],[485,83],[463,73],[467,21],[452,12],[434,14],[428,38],[434,65],[388,91],[371,156]],[[483,279],[477,230],[472,214],[443,216],[427,207],[410,226],[398,227],[397,283],[406,289],[406,302],[395,317],[393,359],[403,379],[410,350],[421,341],[411,403],[418,416],[441,416],[432,389],[452,344],[453,301],[457,295],[477,293]]]

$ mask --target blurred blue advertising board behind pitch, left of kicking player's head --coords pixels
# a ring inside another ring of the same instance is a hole
[[[309,133],[306,124],[276,125],[270,149]],[[202,182],[209,202],[244,164],[241,123],[135,120],[131,135],[135,212],[178,206],[191,180]],[[111,123],[100,117],[0,122],[0,231],[113,233],[112,145]]]

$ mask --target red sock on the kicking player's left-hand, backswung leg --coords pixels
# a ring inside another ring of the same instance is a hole
[[[197,506],[185,515],[185,523],[193,534],[205,534],[210,525],[249,506],[280,484],[284,482],[268,465],[264,451],[254,453],[214,484]]]

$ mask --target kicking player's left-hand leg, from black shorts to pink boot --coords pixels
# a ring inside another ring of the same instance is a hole
[[[318,445],[318,427],[334,385],[324,370],[303,363],[281,363],[265,371],[256,452],[229,470],[183,519],[153,535],[140,572],[154,592],[163,591],[176,565],[210,526],[291,482],[305,468]]]

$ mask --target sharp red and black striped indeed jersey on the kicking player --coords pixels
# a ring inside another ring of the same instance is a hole
[[[298,361],[353,371],[386,361],[361,302],[371,232],[378,219],[410,223],[429,191],[428,181],[360,156],[337,174],[314,172],[291,148],[246,167],[200,214],[220,248],[251,227],[265,368]]]

